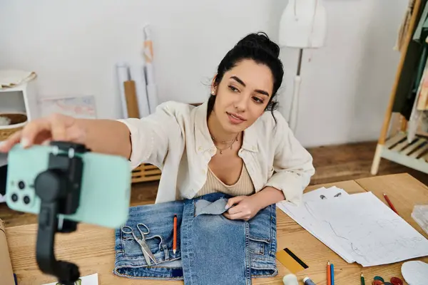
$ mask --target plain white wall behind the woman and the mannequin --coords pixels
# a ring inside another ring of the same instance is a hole
[[[324,3],[327,42],[304,54],[297,138],[305,146],[377,139],[399,60],[392,47],[407,1]],[[286,4],[0,0],[0,68],[36,71],[41,97],[94,94],[98,117],[118,118],[114,64],[138,62],[141,28],[151,24],[160,101],[200,102],[208,97],[206,84],[221,58],[246,33],[266,31],[277,41]],[[282,60],[286,115],[297,51],[284,49]]]

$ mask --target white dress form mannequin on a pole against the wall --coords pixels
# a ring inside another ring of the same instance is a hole
[[[280,21],[280,46],[299,48],[299,61],[294,80],[291,110],[288,123],[297,127],[298,97],[300,92],[300,67],[303,48],[324,46],[327,16],[322,0],[289,0]]]

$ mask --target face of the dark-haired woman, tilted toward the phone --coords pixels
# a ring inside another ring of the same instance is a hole
[[[240,61],[225,72],[220,84],[212,86],[214,114],[228,133],[239,133],[263,115],[272,96],[270,68],[252,60]]]

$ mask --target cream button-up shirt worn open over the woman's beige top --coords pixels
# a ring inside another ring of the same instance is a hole
[[[156,203],[192,199],[207,180],[208,162],[217,149],[207,125],[208,101],[197,107],[169,101],[158,105],[156,112],[144,118],[118,120],[131,133],[131,167],[141,163],[162,170]],[[255,192],[271,186],[285,198],[300,204],[302,192],[314,175],[312,156],[297,141],[285,118],[265,112],[244,131],[238,151]]]

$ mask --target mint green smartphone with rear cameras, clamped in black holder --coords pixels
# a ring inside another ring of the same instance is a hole
[[[6,203],[19,212],[39,214],[40,199],[34,190],[36,176],[48,168],[52,146],[15,145],[9,152]],[[124,157],[96,152],[76,154],[83,160],[79,206],[74,214],[58,217],[75,222],[117,228],[128,219],[131,197],[131,166]],[[22,183],[24,182],[24,184]],[[24,185],[23,189],[22,186]],[[11,198],[16,194],[16,202]],[[24,197],[26,202],[24,202]]]

